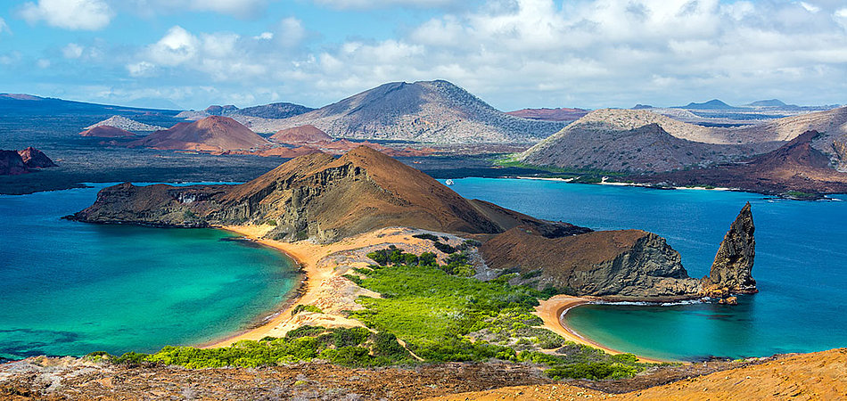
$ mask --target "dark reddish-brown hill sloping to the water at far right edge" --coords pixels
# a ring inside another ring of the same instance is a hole
[[[814,147],[818,139],[817,131],[807,131],[775,151],[744,162],[629,178],[652,184],[706,184],[774,194],[847,192],[847,173],[831,167],[830,158]]]

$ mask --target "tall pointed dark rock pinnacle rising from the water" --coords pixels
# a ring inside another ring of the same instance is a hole
[[[747,202],[720,242],[711,272],[703,277],[703,290],[707,295],[714,296],[717,291],[719,297],[715,298],[725,298],[730,293],[759,292],[751,274],[753,259],[756,258],[755,231],[750,202]]]

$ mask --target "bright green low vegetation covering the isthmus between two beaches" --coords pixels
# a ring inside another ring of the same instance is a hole
[[[368,254],[375,265],[347,274],[359,286],[381,294],[360,297],[362,310],[349,316],[367,328],[327,329],[303,326],[284,338],[243,340],[227,348],[166,347],[155,354],[130,352],[110,357],[124,364],[177,364],[188,368],[256,367],[321,359],[344,366],[384,366],[423,362],[466,362],[499,359],[546,365],[553,379],[621,379],[645,369],[630,354],[603,351],[565,341],[541,327],[533,315],[539,299],[555,291],[510,285],[517,273],[489,282],[473,279],[465,251],[448,255],[440,265],[435,255],[413,255],[396,247]],[[293,314],[320,312],[295,307]],[[402,340],[400,342],[399,340]],[[410,352],[411,351],[411,352]]]

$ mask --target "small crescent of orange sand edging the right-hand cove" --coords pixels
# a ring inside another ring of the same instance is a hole
[[[592,348],[602,349],[605,353],[610,355],[624,354],[624,352],[621,352],[620,350],[606,347],[603,344],[596,342],[595,340],[591,340],[588,337],[581,335],[579,332],[573,330],[564,322],[565,319],[563,319],[563,315],[566,315],[569,310],[574,307],[586,305],[589,302],[593,302],[595,300],[596,299],[573,297],[570,295],[556,295],[550,299],[540,301],[540,305],[535,308],[536,315],[538,315],[541,320],[544,321],[544,327],[547,330],[555,332],[556,334],[564,337],[565,340],[573,341],[582,345],[587,345],[588,347]],[[655,359],[639,355],[636,356],[638,358],[638,362],[644,362],[648,364],[680,362]]]

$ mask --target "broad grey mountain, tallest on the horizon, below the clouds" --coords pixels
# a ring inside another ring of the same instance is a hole
[[[289,119],[251,121],[256,132],[312,125],[335,138],[427,143],[534,143],[564,127],[496,110],[447,81],[392,82]]]

